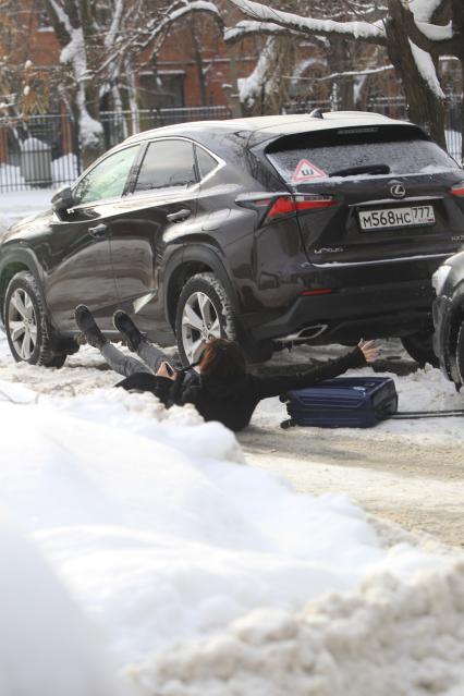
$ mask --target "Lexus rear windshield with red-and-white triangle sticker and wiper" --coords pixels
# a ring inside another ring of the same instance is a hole
[[[373,126],[280,138],[267,157],[286,182],[328,176],[434,173],[456,162],[414,126]]]

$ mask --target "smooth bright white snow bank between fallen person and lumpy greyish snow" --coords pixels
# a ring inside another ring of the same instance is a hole
[[[349,500],[296,496],[235,463],[234,436],[193,410],[192,424],[181,408],[148,417],[148,395],[118,390],[24,396],[0,402],[3,508],[107,628],[119,662],[258,606],[295,610],[352,588],[384,557]]]

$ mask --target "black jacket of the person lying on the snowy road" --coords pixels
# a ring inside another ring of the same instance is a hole
[[[244,375],[239,381],[218,380],[194,370],[180,374],[175,381],[138,373],[127,377],[118,387],[151,391],[166,406],[194,404],[205,420],[219,420],[231,430],[245,428],[261,399],[279,396],[292,389],[310,387],[325,379],[342,375],[350,368],[363,367],[366,361],[355,347],[351,353],[325,365],[310,367],[297,375],[258,377]]]

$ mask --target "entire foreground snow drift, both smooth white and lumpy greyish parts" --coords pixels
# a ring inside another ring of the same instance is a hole
[[[452,557],[382,548],[345,497],[296,494],[248,467],[225,428],[149,394],[2,381],[0,420],[2,509],[134,694],[462,692]]]

